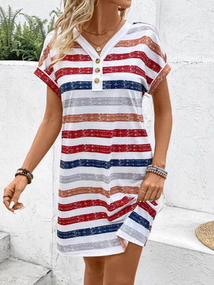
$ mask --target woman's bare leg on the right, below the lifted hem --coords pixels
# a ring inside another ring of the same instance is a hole
[[[128,242],[126,252],[105,256],[103,285],[134,285],[142,249]]]

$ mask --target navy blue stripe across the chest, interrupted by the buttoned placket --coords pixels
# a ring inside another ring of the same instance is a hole
[[[64,83],[60,86],[59,90],[61,94],[66,91],[71,90],[87,90],[92,89],[91,81],[72,81]],[[147,92],[148,90],[143,86],[143,84],[135,81],[103,81],[103,89],[131,89],[139,92]]]

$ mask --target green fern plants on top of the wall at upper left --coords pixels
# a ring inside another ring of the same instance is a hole
[[[39,61],[44,39],[47,33],[54,30],[55,16],[61,11],[52,10],[49,19],[40,19],[38,16],[29,16],[21,13],[22,9],[13,12],[11,6],[6,13],[0,6],[0,60]],[[21,26],[16,24],[16,17],[24,16],[26,21]],[[47,31],[45,25],[47,26]]]

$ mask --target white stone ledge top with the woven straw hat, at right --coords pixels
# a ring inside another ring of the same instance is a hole
[[[200,224],[213,220],[214,214],[164,204],[156,215],[148,240],[214,255],[213,249],[206,247],[195,235]]]

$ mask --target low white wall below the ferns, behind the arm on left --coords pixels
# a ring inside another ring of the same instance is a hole
[[[0,61],[2,196],[23,164],[44,116],[46,86],[39,84],[35,69],[35,62]],[[51,264],[53,151],[51,147],[21,193],[24,209],[12,214],[0,203],[0,230],[11,235],[11,255],[46,266]]]

